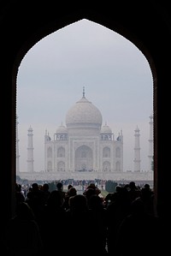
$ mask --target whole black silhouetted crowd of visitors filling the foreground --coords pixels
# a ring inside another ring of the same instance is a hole
[[[27,194],[16,183],[16,214],[6,225],[9,256],[45,255],[147,255],[164,251],[164,223],[154,211],[154,192],[130,182],[102,197],[91,183],[77,193],[32,183]],[[163,254],[164,255],[164,254]]]

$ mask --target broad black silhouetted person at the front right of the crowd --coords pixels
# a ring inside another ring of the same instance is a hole
[[[115,253],[118,256],[151,256],[162,252],[160,224],[157,217],[145,211],[142,199],[135,199],[131,214],[124,218],[118,229]]]

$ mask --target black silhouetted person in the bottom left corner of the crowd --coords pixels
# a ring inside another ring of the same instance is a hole
[[[17,205],[16,216],[7,224],[6,247],[9,256],[40,256],[43,253],[38,223],[26,202]]]

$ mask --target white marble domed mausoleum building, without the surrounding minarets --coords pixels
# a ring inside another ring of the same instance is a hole
[[[56,129],[53,140],[44,135],[44,171],[83,173],[123,172],[123,135],[117,136],[97,107],[83,96],[66,115],[66,126]],[[77,175],[76,175],[77,176]],[[79,176],[79,175],[78,175]]]

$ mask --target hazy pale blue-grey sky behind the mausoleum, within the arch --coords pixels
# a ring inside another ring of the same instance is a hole
[[[115,138],[122,129],[124,170],[133,170],[134,130],[140,130],[141,170],[148,170],[149,116],[153,112],[150,66],[118,33],[81,20],[34,45],[17,77],[20,170],[27,171],[27,130],[33,129],[34,170],[44,170],[44,133],[65,125],[68,109],[82,98],[96,105]]]

